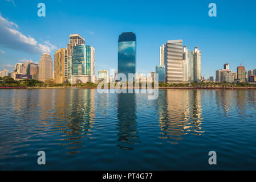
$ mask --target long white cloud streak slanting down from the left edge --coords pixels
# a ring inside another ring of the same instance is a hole
[[[29,53],[50,53],[52,49],[56,49],[49,40],[40,44],[31,36],[23,35],[17,28],[17,24],[3,18],[0,14],[0,46]]]

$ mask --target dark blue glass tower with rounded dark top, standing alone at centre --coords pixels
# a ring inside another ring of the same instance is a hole
[[[124,32],[118,39],[118,73],[136,73],[136,35],[133,32]]]

